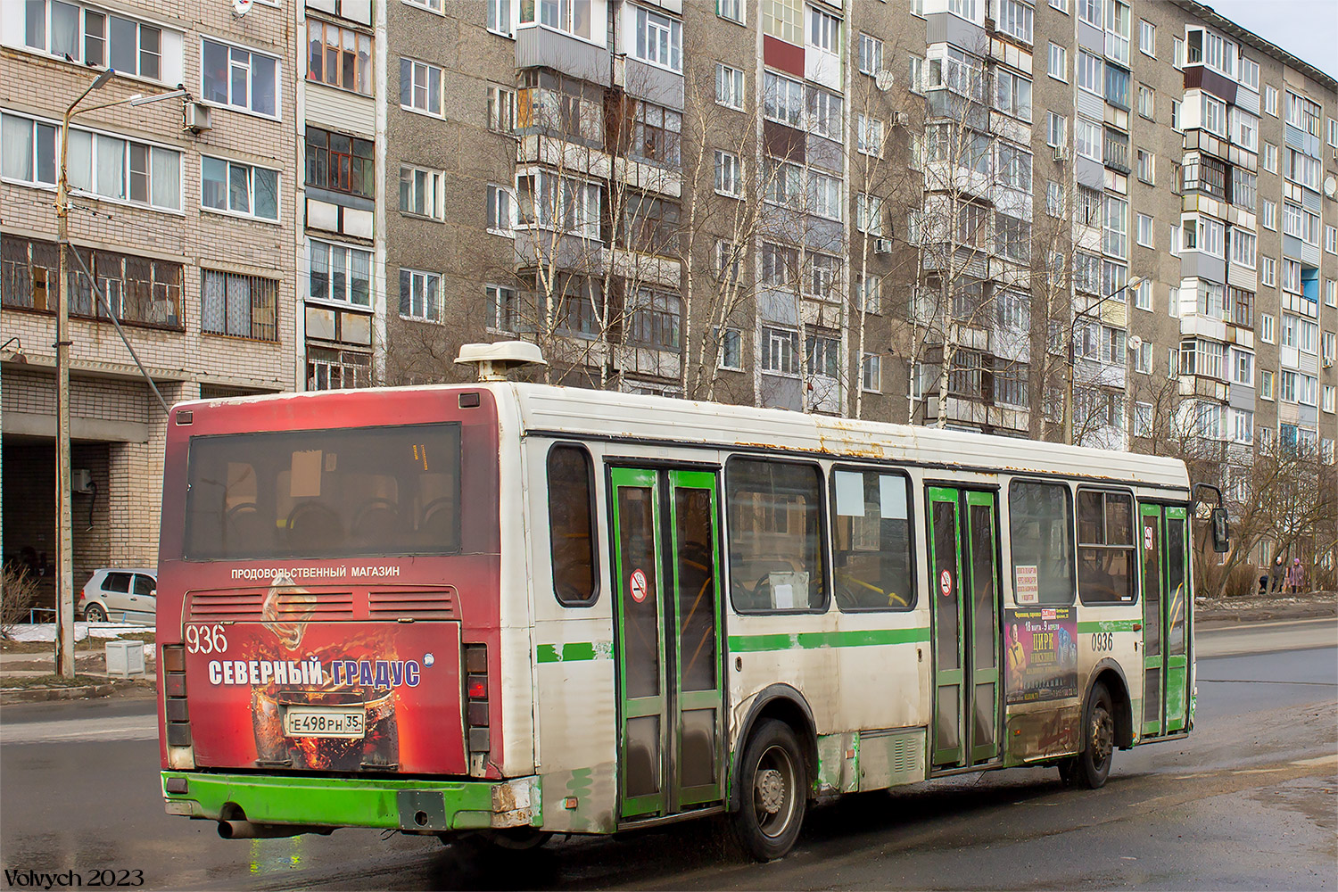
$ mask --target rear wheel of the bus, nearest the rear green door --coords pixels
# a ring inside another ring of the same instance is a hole
[[[764,719],[744,750],[735,833],[759,861],[783,857],[799,839],[808,804],[808,772],[789,725]]]

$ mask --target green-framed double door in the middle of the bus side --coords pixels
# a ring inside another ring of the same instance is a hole
[[[999,757],[998,510],[993,492],[929,488],[935,769]]]

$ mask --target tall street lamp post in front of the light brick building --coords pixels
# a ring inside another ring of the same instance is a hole
[[[75,596],[74,596],[74,536],[70,518],[70,120],[86,111],[112,106],[146,106],[162,99],[185,96],[185,90],[145,96],[135,94],[116,102],[75,108],[94,90],[102,90],[115,68],[107,68],[92,79],[79,96],[66,108],[60,120],[60,173],[56,177],[56,241],[60,249],[60,301],[56,305],[56,674],[74,678],[75,674]]]

